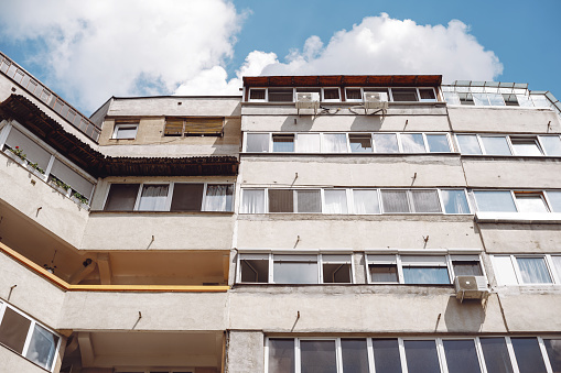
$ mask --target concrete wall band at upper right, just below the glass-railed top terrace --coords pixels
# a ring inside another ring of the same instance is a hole
[[[455,132],[560,133],[561,121],[550,109],[449,107]],[[551,127],[548,129],[548,123]]]

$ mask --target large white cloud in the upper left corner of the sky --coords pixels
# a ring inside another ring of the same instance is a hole
[[[94,109],[111,96],[173,92],[207,68],[214,76],[242,18],[227,0],[18,0],[2,6],[0,30],[43,42],[33,61],[45,83]]]

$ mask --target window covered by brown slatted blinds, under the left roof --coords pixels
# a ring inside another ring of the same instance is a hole
[[[220,136],[223,133],[224,118],[207,117],[168,117],[163,134],[165,136]]]

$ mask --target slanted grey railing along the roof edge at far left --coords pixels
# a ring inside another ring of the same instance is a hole
[[[21,88],[36,97],[39,100],[45,102],[46,106],[86,136],[96,143],[98,142],[99,134],[101,133],[101,129],[99,127],[93,123],[87,117],[83,116],[78,110],[58,97],[55,92],[1,52],[0,73],[17,83]]]

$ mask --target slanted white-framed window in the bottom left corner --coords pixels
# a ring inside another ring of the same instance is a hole
[[[57,334],[1,301],[0,319],[0,344],[47,371],[53,369],[61,341]]]

